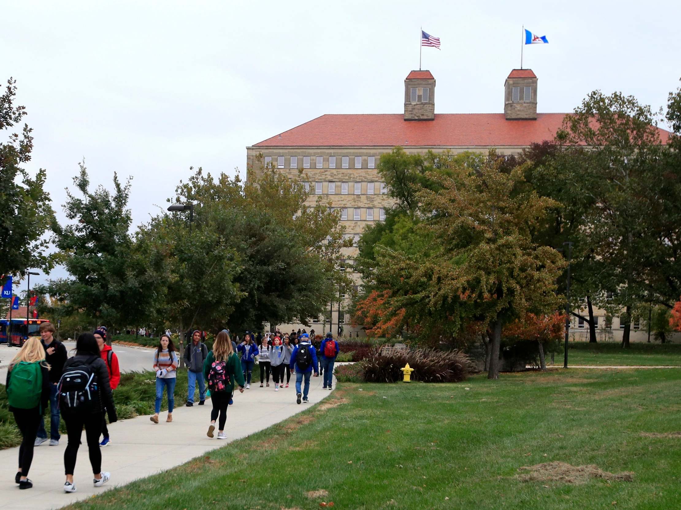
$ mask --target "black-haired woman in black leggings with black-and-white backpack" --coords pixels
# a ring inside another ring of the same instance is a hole
[[[82,333],[78,337],[76,356],[64,363],[59,379],[59,407],[69,438],[64,452],[64,492],[76,492],[74,469],[83,426],[94,474],[93,483],[95,487],[103,486],[111,478],[111,473],[101,471],[101,421],[105,412],[109,423],[116,422],[117,418],[109,371],[92,333]]]

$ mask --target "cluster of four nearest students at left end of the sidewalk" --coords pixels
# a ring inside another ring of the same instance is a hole
[[[110,423],[117,420],[112,389],[121,378],[118,360],[106,345],[106,330],[103,328],[97,329],[95,334],[80,335],[72,358],[67,357],[64,345],[54,339],[52,324],[41,324],[39,332],[41,338],[29,338],[14,356],[7,371],[7,400],[22,435],[14,481],[20,489],[33,487],[28,477],[29,469],[34,447],[47,440],[43,415],[49,403],[50,446],[59,445],[60,414],[67,430],[63,490],[76,492],[74,469],[83,428],[93,484],[101,487],[111,476],[101,471],[100,445],[109,443],[105,415]],[[103,431],[104,439],[100,443]]]

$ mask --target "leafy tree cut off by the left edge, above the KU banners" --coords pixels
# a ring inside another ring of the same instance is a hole
[[[14,106],[15,95],[16,80],[10,78],[0,96],[0,130],[12,129],[27,115],[25,107]],[[21,135],[12,133],[0,143],[0,275],[54,267],[43,237],[54,218],[50,195],[44,190],[46,172],[39,169],[31,177],[21,166],[31,160],[32,131],[24,124]],[[0,285],[4,282],[0,276]]]

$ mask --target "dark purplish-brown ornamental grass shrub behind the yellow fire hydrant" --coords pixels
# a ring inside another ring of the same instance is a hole
[[[384,356],[379,349],[362,362],[364,381],[396,382],[402,380],[402,369],[409,363],[414,369],[411,378],[424,382],[460,382],[471,371],[471,360],[455,350],[440,352],[431,349],[397,351]]]

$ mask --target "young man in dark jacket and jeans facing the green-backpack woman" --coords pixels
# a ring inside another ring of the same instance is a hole
[[[42,345],[45,349],[45,362],[50,365],[50,446],[59,445],[59,394],[57,393],[57,383],[61,377],[61,371],[66,362],[66,347],[58,340],[54,339],[54,326],[51,322],[40,324],[39,332]],[[35,446],[40,446],[47,441],[47,430],[45,422],[40,418],[38,422],[38,432],[35,437]]]

